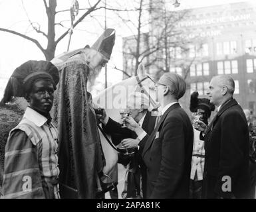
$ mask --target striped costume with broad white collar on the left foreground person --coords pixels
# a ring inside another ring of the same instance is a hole
[[[28,107],[5,147],[5,198],[59,198],[58,138],[53,123]]]

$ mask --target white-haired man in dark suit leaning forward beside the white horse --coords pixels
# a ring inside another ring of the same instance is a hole
[[[156,125],[156,116],[152,115],[150,112],[152,108],[150,107],[150,100],[144,93],[134,92],[128,97],[128,109],[130,109],[130,116],[146,131],[151,133],[154,131]],[[132,156],[131,161],[127,158],[127,161],[123,161],[122,164],[128,165],[128,172],[134,173],[134,182],[136,187],[133,191],[127,191],[126,197],[135,197],[136,193],[140,195],[140,186],[142,186],[142,196],[146,195],[146,166],[142,161],[139,154],[140,148],[138,148],[138,136],[134,131],[131,131],[127,127],[122,127],[122,125],[106,115],[103,111],[102,117],[98,115],[100,121],[103,123],[102,129],[112,136],[112,142],[114,145],[122,144],[125,148],[136,148],[134,156]],[[140,185],[140,176],[142,177],[142,185]],[[145,193],[145,194],[144,194]]]

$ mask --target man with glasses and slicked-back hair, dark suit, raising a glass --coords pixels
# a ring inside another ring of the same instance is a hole
[[[146,198],[188,198],[193,150],[193,127],[178,100],[186,91],[181,76],[164,74],[156,83],[162,118],[152,134],[146,134],[130,117],[128,128],[138,134],[147,167]]]

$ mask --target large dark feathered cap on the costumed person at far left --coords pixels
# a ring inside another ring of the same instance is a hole
[[[31,89],[33,82],[37,79],[49,79],[53,82],[53,87],[59,82],[58,69],[48,61],[29,60],[16,68],[11,75],[5,88],[5,95],[7,100],[10,101],[11,97],[26,97],[27,91]]]

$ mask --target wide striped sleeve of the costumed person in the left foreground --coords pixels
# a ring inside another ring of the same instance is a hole
[[[3,195],[5,199],[45,198],[37,147],[19,129],[11,132],[5,146]]]

